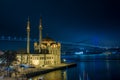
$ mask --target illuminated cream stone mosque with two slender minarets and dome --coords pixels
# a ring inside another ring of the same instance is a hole
[[[17,54],[19,64],[35,67],[57,65],[61,63],[61,44],[50,37],[42,39],[42,18],[39,25],[39,42],[34,42],[34,52],[30,53],[30,21],[27,22],[27,54]]]

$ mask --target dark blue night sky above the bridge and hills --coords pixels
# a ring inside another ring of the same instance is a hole
[[[120,46],[120,3],[116,0],[0,0],[0,36],[38,39],[40,16],[43,37],[57,41]]]

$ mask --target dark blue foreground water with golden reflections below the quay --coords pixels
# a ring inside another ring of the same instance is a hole
[[[120,61],[76,62],[77,66],[31,78],[38,80],[120,80]]]

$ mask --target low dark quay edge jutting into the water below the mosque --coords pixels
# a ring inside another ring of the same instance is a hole
[[[40,74],[45,74],[45,73],[55,71],[55,70],[60,70],[60,69],[67,69],[67,68],[74,67],[74,66],[77,66],[77,64],[71,63],[71,64],[60,64],[60,65],[55,65],[55,66],[46,66],[42,68],[28,68],[21,72],[21,76],[30,78],[30,77],[37,76]]]

